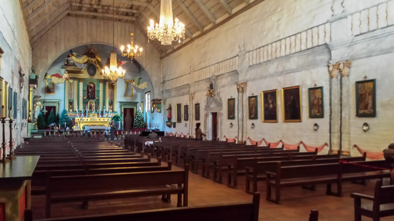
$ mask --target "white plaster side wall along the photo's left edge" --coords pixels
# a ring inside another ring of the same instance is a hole
[[[18,110],[22,111],[22,99],[28,100],[29,85],[28,76],[32,66],[32,49],[29,42],[29,36],[23,20],[21,6],[17,0],[0,0],[0,47],[4,50],[1,58],[0,77],[3,78],[9,86],[18,94]],[[25,84],[20,89],[19,67],[25,73]],[[22,113],[21,113],[22,114]],[[21,120],[21,123],[27,123],[27,120]],[[16,120],[14,121],[14,125]],[[9,141],[8,123],[5,130],[5,140]],[[27,137],[27,126],[22,125],[13,127],[12,137],[14,147],[21,144],[23,137]],[[17,132],[18,131],[18,132]],[[20,137],[17,137],[20,134]]]

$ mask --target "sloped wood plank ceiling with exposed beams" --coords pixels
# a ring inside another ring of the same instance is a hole
[[[159,23],[160,0],[20,0],[31,43],[52,28],[65,16],[134,22],[136,28],[146,33],[149,21]],[[188,41],[217,27],[235,12],[250,4],[250,0],[172,0],[173,17],[186,27],[185,40],[164,46],[151,41],[165,56]]]

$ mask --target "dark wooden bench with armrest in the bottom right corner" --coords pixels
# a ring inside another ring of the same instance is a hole
[[[378,180],[373,196],[352,193],[350,197],[354,198],[355,221],[361,221],[361,216],[372,218],[374,221],[379,221],[382,217],[394,216],[394,185],[383,186],[383,181]],[[361,199],[371,203],[361,205]]]

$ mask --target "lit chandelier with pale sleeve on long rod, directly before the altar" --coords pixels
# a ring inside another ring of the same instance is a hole
[[[115,0],[112,1],[112,11],[113,11],[113,45],[115,47]],[[111,81],[116,81],[118,78],[125,78],[125,73],[126,70],[123,70],[121,67],[118,68],[118,60],[116,59],[116,53],[115,51],[111,52],[111,55],[109,57],[109,68],[107,66],[104,67],[104,69],[101,70],[102,75],[104,76],[105,79],[109,79]]]

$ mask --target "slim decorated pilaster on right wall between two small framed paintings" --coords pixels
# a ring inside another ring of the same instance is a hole
[[[244,110],[245,103],[247,102],[246,96],[247,83],[237,84],[237,122],[238,122],[238,142],[243,142],[246,131],[246,110]]]

